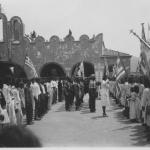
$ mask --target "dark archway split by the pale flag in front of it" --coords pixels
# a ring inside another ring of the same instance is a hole
[[[81,64],[81,62],[78,62],[77,64],[75,64],[72,67],[71,76],[75,76],[76,71],[79,69],[80,64]],[[91,74],[95,74],[94,65],[92,63],[84,61],[83,65],[84,65],[84,76],[85,77],[89,77],[89,76],[91,76]]]

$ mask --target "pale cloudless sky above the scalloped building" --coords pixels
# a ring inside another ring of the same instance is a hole
[[[140,56],[141,23],[147,38],[150,23],[150,0],[0,0],[2,12],[10,20],[21,17],[25,33],[35,30],[49,40],[63,39],[71,29],[75,40],[82,34],[89,38],[103,33],[105,47]]]

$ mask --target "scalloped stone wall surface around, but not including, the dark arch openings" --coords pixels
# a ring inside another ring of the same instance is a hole
[[[0,14],[0,16],[4,23],[4,41],[0,42],[0,61],[11,61],[20,65],[27,76],[29,73],[24,67],[26,55],[32,60],[39,76],[42,67],[51,62],[58,63],[66,71],[66,74],[70,74],[72,67],[82,60],[94,64],[96,72],[103,70],[102,33],[92,38],[84,34],[80,36],[79,40],[75,40],[72,32],[69,31],[63,40],[54,35],[50,37],[49,41],[42,36],[37,36],[31,41],[24,36],[21,18],[15,16],[7,21],[4,14]],[[114,58],[110,59],[109,63],[114,63]]]

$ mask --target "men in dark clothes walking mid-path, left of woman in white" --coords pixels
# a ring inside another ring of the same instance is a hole
[[[95,112],[96,91],[97,88],[94,75],[91,75],[86,80],[83,80],[83,78],[67,78],[64,84],[66,111],[70,111],[74,103],[75,110],[80,110],[84,95],[89,93],[89,108],[91,112]]]

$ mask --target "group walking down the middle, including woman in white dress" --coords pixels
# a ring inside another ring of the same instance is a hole
[[[75,104],[75,110],[79,111],[84,102],[84,97],[88,95],[90,112],[96,112],[96,99],[101,99],[103,116],[107,116],[106,107],[109,102],[109,82],[96,82],[95,75],[83,80],[83,78],[67,78],[64,84],[65,109],[71,111]]]

